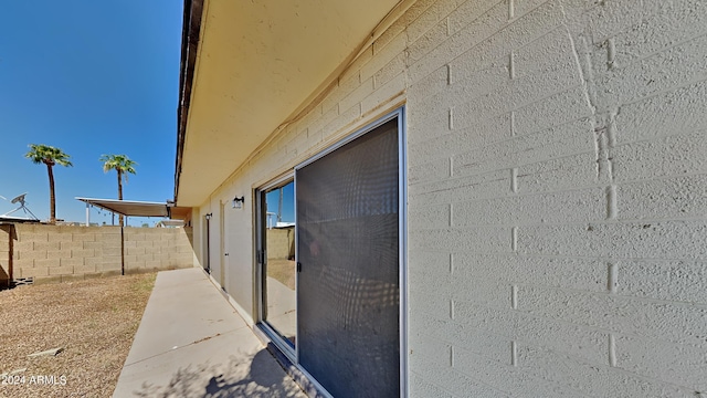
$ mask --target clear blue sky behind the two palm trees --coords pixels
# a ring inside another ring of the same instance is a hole
[[[85,220],[85,205],[75,197],[117,198],[115,171],[104,174],[98,161],[103,154],[125,154],[138,163],[124,199],[172,199],[182,3],[3,2],[1,196],[29,192],[28,207],[49,218],[46,167],[24,158],[29,144],[46,144],[62,148],[74,164],[54,167],[60,219]],[[14,207],[0,199],[0,214]],[[110,223],[110,217],[94,209],[92,221]]]

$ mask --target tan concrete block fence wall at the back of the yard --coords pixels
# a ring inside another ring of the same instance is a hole
[[[0,226],[0,285],[193,266],[191,228]],[[124,241],[122,241],[124,240]],[[4,280],[3,280],[4,279]]]

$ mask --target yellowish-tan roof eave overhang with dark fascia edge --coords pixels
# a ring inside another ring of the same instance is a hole
[[[175,202],[203,205],[414,1],[184,0]]]

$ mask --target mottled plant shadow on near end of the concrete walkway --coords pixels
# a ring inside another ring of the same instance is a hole
[[[214,376],[215,375],[215,376]],[[225,366],[201,364],[177,370],[166,386],[143,384],[136,397],[302,397],[302,390],[285,375],[267,349],[251,363],[231,356]]]

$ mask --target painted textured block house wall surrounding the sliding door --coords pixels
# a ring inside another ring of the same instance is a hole
[[[419,0],[201,207],[214,279],[253,316],[230,198],[404,104],[412,397],[707,396],[706,65],[700,0]]]

